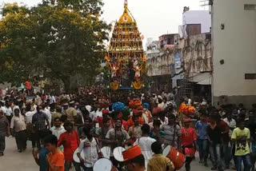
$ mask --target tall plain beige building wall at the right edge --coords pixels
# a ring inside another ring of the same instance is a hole
[[[256,101],[256,1],[212,3],[213,102],[215,106]]]

